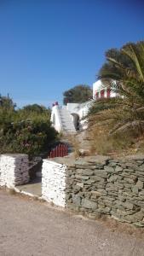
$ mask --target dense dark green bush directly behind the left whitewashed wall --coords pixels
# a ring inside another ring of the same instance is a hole
[[[48,120],[5,122],[0,131],[0,153],[42,154],[56,136]]]

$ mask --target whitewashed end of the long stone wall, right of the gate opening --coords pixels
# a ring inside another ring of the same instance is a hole
[[[42,197],[56,206],[66,206],[66,166],[52,160],[43,160]]]

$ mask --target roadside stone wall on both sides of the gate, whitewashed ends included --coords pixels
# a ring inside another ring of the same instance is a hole
[[[26,154],[0,156],[0,186],[29,181]],[[43,160],[42,196],[90,218],[107,214],[144,226],[144,154],[117,160],[105,156]]]

